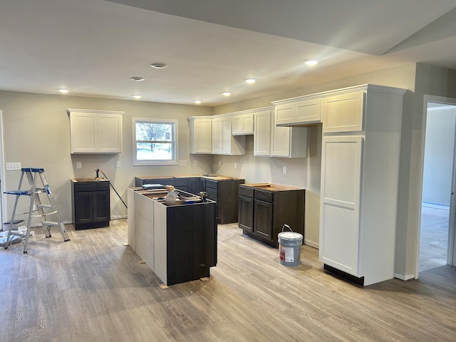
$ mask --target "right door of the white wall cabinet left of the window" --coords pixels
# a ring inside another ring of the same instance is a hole
[[[98,152],[122,152],[122,115],[98,115]]]

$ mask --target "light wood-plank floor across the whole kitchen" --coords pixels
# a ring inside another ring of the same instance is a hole
[[[423,271],[360,287],[301,265],[219,225],[218,264],[207,281],[161,289],[130,247],[125,220],[108,228],[35,229],[23,254],[0,250],[0,341],[456,341],[456,271]]]

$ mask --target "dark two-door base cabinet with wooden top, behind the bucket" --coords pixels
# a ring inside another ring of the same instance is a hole
[[[305,195],[304,189],[284,185],[239,185],[238,226],[247,236],[276,248],[284,224],[304,236]]]

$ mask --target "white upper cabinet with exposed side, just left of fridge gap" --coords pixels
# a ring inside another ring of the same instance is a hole
[[[307,128],[277,126],[277,112],[271,127],[271,157],[298,158],[307,156]]]

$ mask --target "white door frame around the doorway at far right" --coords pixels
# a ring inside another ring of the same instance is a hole
[[[447,98],[445,96],[425,95],[423,101],[423,130],[421,137],[421,150],[423,151],[423,157],[421,158],[421,169],[420,169],[420,209],[418,210],[418,239],[416,246],[416,271],[415,279],[418,279],[420,269],[420,235],[421,235],[421,206],[423,203],[423,179],[424,179],[424,165],[425,165],[425,140],[426,140],[426,122],[427,122],[427,103],[442,103],[445,105],[456,105],[456,98]],[[456,148],[456,137],[455,137],[455,148]],[[456,150],[455,150],[456,151]],[[450,197],[450,219],[448,222],[448,246],[447,246],[447,264],[455,264],[455,229],[456,229],[456,201],[455,201],[455,187],[456,187],[456,156],[453,157],[452,166],[452,185],[451,185],[451,197]]]

